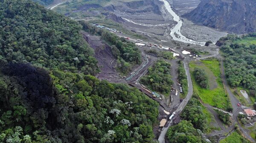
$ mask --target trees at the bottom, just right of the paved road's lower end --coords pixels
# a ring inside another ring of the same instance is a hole
[[[194,95],[195,96],[195,95]],[[167,131],[170,143],[209,143],[206,132],[211,130],[208,113],[200,101],[192,97],[180,114],[183,119]]]

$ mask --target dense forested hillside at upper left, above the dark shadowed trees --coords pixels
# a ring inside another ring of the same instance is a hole
[[[2,0],[0,56],[8,62],[38,67],[98,72],[93,50],[79,31],[82,26],[28,0]]]

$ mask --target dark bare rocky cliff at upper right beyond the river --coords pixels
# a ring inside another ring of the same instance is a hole
[[[183,17],[230,33],[256,31],[256,0],[201,0]]]

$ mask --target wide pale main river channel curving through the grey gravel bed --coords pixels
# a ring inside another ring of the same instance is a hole
[[[180,17],[172,10],[170,3],[167,0],[160,0],[164,3],[164,6],[166,10],[173,16],[173,20],[177,22],[177,25],[175,25],[171,29],[170,36],[172,36],[172,39],[184,43],[189,43],[189,44],[198,44],[198,45],[205,45],[205,42],[196,42],[192,39],[188,39],[186,36],[183,36],[180,33],[180,28],[182,26],[183,21],[180,20]]]

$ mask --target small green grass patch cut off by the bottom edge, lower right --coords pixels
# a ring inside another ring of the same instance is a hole
[[[220,143],[250,143],[250,141],[244,139],[238,132],[233,132],[228,137],[221,140]]]

